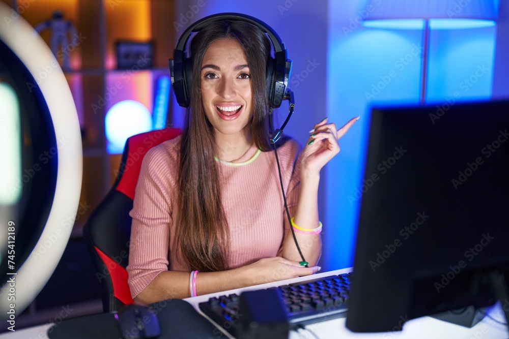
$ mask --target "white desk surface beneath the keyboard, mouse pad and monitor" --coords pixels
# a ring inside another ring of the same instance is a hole
[[[323,272],[315,274],[313,279],[321,278],[332,274],[342,274],[350,272],[351,268],[340,269],[335,271]],[[203,313],[199,310],[198,304],[200,302],[208,300],[213,296],[220,296],[224,294],[237,293],[240,294],[243,291],[252,291],[262,288],[269,288],[279,285],[287,285],[290,283],[300,282],[309,280],[309,276],[302,276],[300,278],[289,279],[269,284],[250,286],[246,288],[223,291],[218,293],[212,293],[207,295],[201,295],[194,298],[184,299],[191,303],[198,312],[202,315]],[[500,304],[497,303],[493,307],[490,307],[487,311],[493,319],[499,322],[505,323],[505,318]],[[204,315],[205,316],[205,315]],[[352,339],[507,339],[509,333],[507,326],[497,323],[496,321],[485,317],[483,321],[479,322],[472,328],[466,328],[459,325],[449,324],[434,318],[422,317],[408,321],[403,326],[401,332],[381,332],[381,333],[353,333],[345,327],[346,318],[333,319],[312,325],[307,325],[306,328],[313,331],[316,336],[320,339],[328,338],[352,338]],[[0,334],[0,339],[45,339],[46,331],[51,325],[45,324],[17,330],[15,332]],[[228,338],[233,338],[224,332]],[[292,331],[290,333],[290,339],[302,339],[302,338],[314,338],[314,336],[306,332],[305,330],[299,330],[299,332]]]

